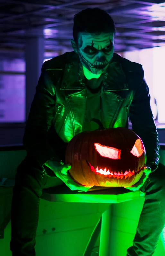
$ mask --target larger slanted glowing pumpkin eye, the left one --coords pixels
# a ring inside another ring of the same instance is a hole
[[[120,159],[121,150],[114,148],[103,146],[99,143],[94,143],[96,151],[103,157],[108,157],[111,159]]]

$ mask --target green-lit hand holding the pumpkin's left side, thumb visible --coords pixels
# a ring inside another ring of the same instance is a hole
[[[71,190],[81,190],[81,191],[88,191],[89,188],[93,186],[85,186],[85,185],[79,185],[75,183],[70,175],[67,173],[68,170],[71,168],[71,164],[60,164],[59,162],[55,160],[48,161],[46,164],[55,174],[58,178],[60,178]]]

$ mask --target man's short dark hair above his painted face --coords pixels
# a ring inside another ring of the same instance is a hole
[[[114,33],[115,24],[111,16],[99,8],[87,8],[74,15],[73,38],[78,43],[78,33]]]

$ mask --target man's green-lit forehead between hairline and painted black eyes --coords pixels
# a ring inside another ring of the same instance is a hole
[[[81,45],[91,45],[93,41],[93,46],[103,46],[104,44],[109,43],[110,41],[113,42],[114,34],[113,33],[101,33],[99,35],[79,32],[79,44]]]

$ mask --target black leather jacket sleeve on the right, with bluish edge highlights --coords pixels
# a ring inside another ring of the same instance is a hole
[[[144,78],[142,67],[142,82],[135,92],[130,105],[129,117],[132,130],[142,139],[146,149],[147,163],[157,169],[159,163],[159,138],[154,117],[150,106],[149,88]],[[154,170],[152,170],[154,171]]]

